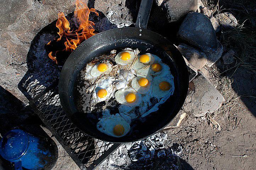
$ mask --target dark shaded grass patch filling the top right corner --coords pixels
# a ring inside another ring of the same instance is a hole
[[[256,1],[251,0],[202,0],[204,4],[213,10],[214,15],[223,12],[231,12],[238,21],[238,27],[234,29],[222,28],[217,34],[221,41],[224,52],[233,49],[236,51],[235,63],[222,70],[239,67],[248,69],[256,74],[256,13],[254,12]]]

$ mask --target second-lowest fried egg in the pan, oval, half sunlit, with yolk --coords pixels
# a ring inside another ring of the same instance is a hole
[[[120,89],[116,91],[115,98],[118,103],[127,106],[137,106],[141,102],[141,95],[132,88]]]

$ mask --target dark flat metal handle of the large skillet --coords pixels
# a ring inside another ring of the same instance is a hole
[[[136,27],[145,29],[147,28],[152,3],[153,0],[141,0]]]

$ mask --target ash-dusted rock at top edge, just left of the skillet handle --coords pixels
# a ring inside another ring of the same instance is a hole
[[[138,13],[137,1],[135,0],[96,0],[94,7],[104,13],[109,21],[118,28],[134,24]]]

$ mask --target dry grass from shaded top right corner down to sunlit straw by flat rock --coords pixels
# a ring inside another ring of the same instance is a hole
[[[239,113],[245,108],[240,102],[240,95],[232,89],[232,75],[239,67],[247,69],[250,74],[256,74],[256,14],[254,8],[256,1],[251,0],[202,0],[205,6],[213,10],[213,16],[218,13],[231,12],[238,21],[238,26],[234,29],[224,29],[217,34],[217,38],[224,47],[224,52],[233,49],[235,62],[223,66],[220,62],[211,68],[207,68],[210,73],[210,80],[217,85],[217,90],[223,95],[225,102],[216,112],[211,114],[215,120],[224,119],[222,128],[234,129],[239,124]],[[218,66],[217,66],[218,65]],[[251,96],[252,97],[252,96]]]

